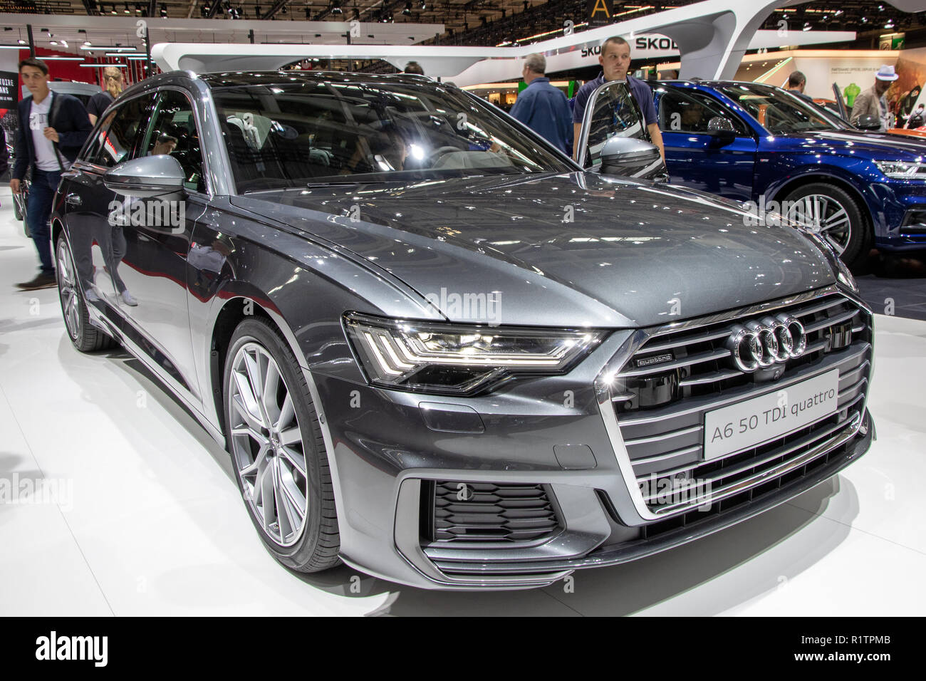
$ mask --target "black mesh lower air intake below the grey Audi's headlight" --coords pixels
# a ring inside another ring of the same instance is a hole
[[[425,481],[421,506],[422,535],[432,545],[517,544],[559,530],[543,485]]]

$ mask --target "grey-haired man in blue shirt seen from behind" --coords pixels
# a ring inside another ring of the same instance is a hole
[[[564,154],[572,150],[572,130],[569,121],[572,113],[566,95],[550,84],[543,55],[528,55],[524,59],[521,75],[527,87],[518,95],[511,107],[511,115],[533,132],[552,142]]]

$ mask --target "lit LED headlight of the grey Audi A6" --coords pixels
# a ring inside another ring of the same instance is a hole
[[[413,392],[469,395],[513,373],[568,372],[602,331],[464,326],[350,312],[344,329],[369,382]]]

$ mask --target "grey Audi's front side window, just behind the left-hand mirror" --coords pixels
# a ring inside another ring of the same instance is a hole
[[[157,100],[154,125],[144,141],[144,156],[166,154],[180,161],[186,188],[206,192],[203,153],[196,130],[193,105],[177,90],[165,90]]]

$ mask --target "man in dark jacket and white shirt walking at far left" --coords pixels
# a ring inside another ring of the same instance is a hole
[[[39,253],[42,271],[30,282],[17,284],[19,288],[31,291],[56,285],[48,225],[52,201],[61,173],[68,170],[77,158],[93,126],[80,99],[51,91],[48,67],[41,59],[31,57],[20,61],[19,77],[31,96],[19,102],[16,163],[9,186],[14,194],[19,194],[19,184],[31,167],[26,220]]]

